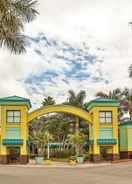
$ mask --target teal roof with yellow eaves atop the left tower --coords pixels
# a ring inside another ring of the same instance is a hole
[[[31,108],[30,100],[19,96],[0,98],[0,105],[27,105],[29,109]]]

